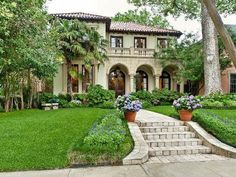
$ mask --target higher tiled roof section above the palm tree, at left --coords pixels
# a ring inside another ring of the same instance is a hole
[[[66,18],[66,19],[79,19],[79,20],[91,20],[91,21],[110,21],[111,20],[109,17],[83,13],[83,12],[55,13],[51,15],[59,17],[59,18]]]

